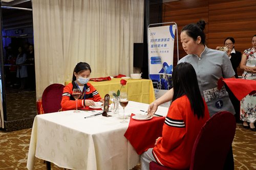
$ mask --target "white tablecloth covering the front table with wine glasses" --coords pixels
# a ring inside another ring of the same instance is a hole
[[[141,113],[148,104],[129,101],[126,113]],[[122,109],[119,113],[122,113]],[[167,115],[159,107],[156,114]],[[34,119],[28,153],[28,169],[35,158],[69,169],[132,169],[140,161],[130,142],[123,136],[129,123],[118,116],[84,118],[95,112],[63,111],[37,115]],[[127,117],[126,120],[130,120]]]

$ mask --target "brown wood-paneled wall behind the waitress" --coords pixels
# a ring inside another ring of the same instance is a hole
[[[186,55],[180,42],[180,31],[189,23],[206,21],[206,45],[215,49],[224,45],[227,37],[236,41],[236,51],[252,47],[251,38],[256,34],[256,0],[181,0],[163,3],[163,22],[176,22],[179,38],[179,58]],[[177,64],[175,43],[174,66]],[[238,67],[238,75],[243,70]]]

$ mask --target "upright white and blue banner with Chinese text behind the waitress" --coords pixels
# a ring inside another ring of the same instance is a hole
[[[173,88],[173,60],[176,25],[148,28],[148,60],[155,97]],[[165,107],[169,107],[169,102]]]

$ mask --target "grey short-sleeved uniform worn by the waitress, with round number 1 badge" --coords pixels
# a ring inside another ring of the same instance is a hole
[[[205,45],[200,58],[190,54],[180,59],[178,64],[181,62],[190,63],[196,70],[200,92],[210,116],[224,110],[236,114],[225,87],[219,91],[217,84],[221,77],[227,79],[235,75],[226,52],[212,50]]]

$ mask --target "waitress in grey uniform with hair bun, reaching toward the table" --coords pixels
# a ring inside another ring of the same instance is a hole
[[[180,38],[185,57],[179,60],[188,62],[196,70],[198,84],[210,116],[220,112],[229,111],[235,114],[233,105],[226,89],[218,90],[218,80],[223,77],[235,78],[235,72],[226,52],[209,49],[205,45],[206,22],[200,20],[197,24],[190,23],[181,30]],[[168,90],[161,98],[157,99],[148,107],[148,115],[153,115],[158,106],[173,99],[173,89]],[[234,169],[232,147],[227,155],[223,169]]]

